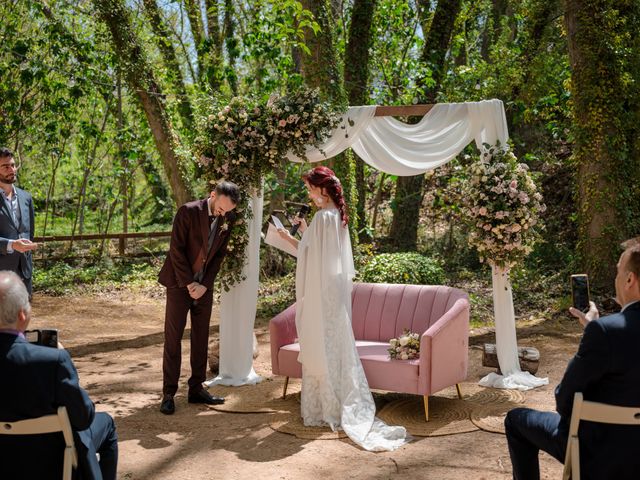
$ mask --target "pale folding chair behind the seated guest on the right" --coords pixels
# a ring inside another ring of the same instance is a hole
[[[580,480],[580,443],[578,442],[580,420],[640,426],[640,407],[618,407],[606,403],[589,402],[583,400],[581,392],[576,392],[573,397],[562,480],[569,480],[569,478]]]

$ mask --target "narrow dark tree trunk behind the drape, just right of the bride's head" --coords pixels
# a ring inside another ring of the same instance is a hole
[[[351,12],[349,26],[349,40],[345,54],[344,84],[350,105],[366,105],[369,101],[367,86],[369,83],[369,47],[371,46],[371,23],[376,7],[376,0],[355,0]],[[358,225],[367,224],[366,185],[364,181],[364,162],[356,156],[355,181],[358,193],[356,214]],[[359,232],[358,238],[362,242],[369,242],[371,238],[365,230]]]

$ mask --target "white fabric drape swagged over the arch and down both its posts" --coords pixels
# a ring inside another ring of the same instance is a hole
[[[350,107],[343,117],[342,126],[336,128],[327,142],[319,148],[307,150],[307,160],[326,160],[352,147],[360,158],[378,170],[400,176],[418,175],[448,162],[472,141],[475,141],[476,146],[482,151],[485,143],[493,145],[499,141],[505,144],[509,138],[504,106],[500,100],[437,104],[414,125],[391,117],[375,117],[375,109],[375,106]],[[292,161],[302,161],[292,154],[288,158]],[[260,209],[254,208],[254,215],[254,222],[255,219],[262,218],[261,204]],[[257,241],[260,238],[260,225],[251,232],[255,236],[251,241]],[[257,252],[257,247],[255,248]],[[252,304],[251,310],[255,315],[258,284],[258,254],[255,252],[252,250],[250,253],[249,261],[255,261],[255,264],[253,269],[247,271],[247,281],[236,286],[224,297],[228,308],[223,305],[225,308],[221,307],[220,312],[221,355],[223,324],[238,322],[238,312],[243,312],[243,315],[248,313],[248,304]],[[254,255],[255,258],[252,260],[251,257]],[[508,272],[504,277],[508,285]],[[490,376],[491,381],[485,377],[483,382],[500,388],[532,388],[534,385],[529,377],[535,377],[522,375],[518,363],[511,293],[509,290],[508,295],[503,295],[498,291],[501,288],[499,285],[504,287],[504,283],[496,281],[494,276],[496,349],[500,369],[504,375]],[[253,321],[251,319],[251,325]],[[247,338],[251,337],[248,333]],[[247,355],[248,360],[245,360],[244,364],[250,364],[250,351],[234,352],[234,356],[240,353]],[[238,379],[234,384],[240,384],[246,376],[249,376],[249,371],[238,373]]]

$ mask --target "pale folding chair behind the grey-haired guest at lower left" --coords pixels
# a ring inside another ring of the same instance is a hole
[[[78,466],[78,457],[73,445],[71,422],[65,407],[58,407],[57,415],[30,418],[18,422],[0,422],[0,435],[38,435],[43,433],[62,432],[64,436],[64,464],[62,479],[71,480],[72,467]]]

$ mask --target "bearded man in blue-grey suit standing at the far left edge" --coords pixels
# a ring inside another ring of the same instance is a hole
[[[31,251],[33,243],[33,199],[16,187],[18,167],[13,153],[0,148],[0,270],[10,270],[22,279],[31,298]]]

